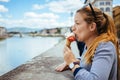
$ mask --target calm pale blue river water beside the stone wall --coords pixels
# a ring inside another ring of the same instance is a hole
[[[59,42],[60,37],[11,37],[0,41],[0,75],[40,55]]]

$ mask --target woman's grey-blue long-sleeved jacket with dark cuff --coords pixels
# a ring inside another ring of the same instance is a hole
[[[89,65],[85,64],[83,54],[80,67],[75,80],[117,80],[117,54],[114,44],[110,41],[101,42]]]

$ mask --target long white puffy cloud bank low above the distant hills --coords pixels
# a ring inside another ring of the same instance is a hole
[[[0,25],[4,27],[29,27],[29,28],[55,28],[65,24],[59,22],[60,16],[53,13],[37,14],[34,12],[26,12],[23,19],[0,19]],[[3,25],[5,24],[5,25]],[[6,26],[7,25],[7,26]]]

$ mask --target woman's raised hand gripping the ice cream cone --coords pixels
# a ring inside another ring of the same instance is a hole
[[[72,62],[78,61],[75,58],[74,54],[72,53],[71,49],[68,48],[67,46],[64,47],[64,60],[65,60],[67,65],[69,65]]]

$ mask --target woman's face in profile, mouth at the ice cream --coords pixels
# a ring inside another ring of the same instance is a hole
[[[75,33],[78,41],[84,42],[92,35],[89,27],[90,25],[84,20],[83,15],[76,13],[75,24],[72,30]]]

